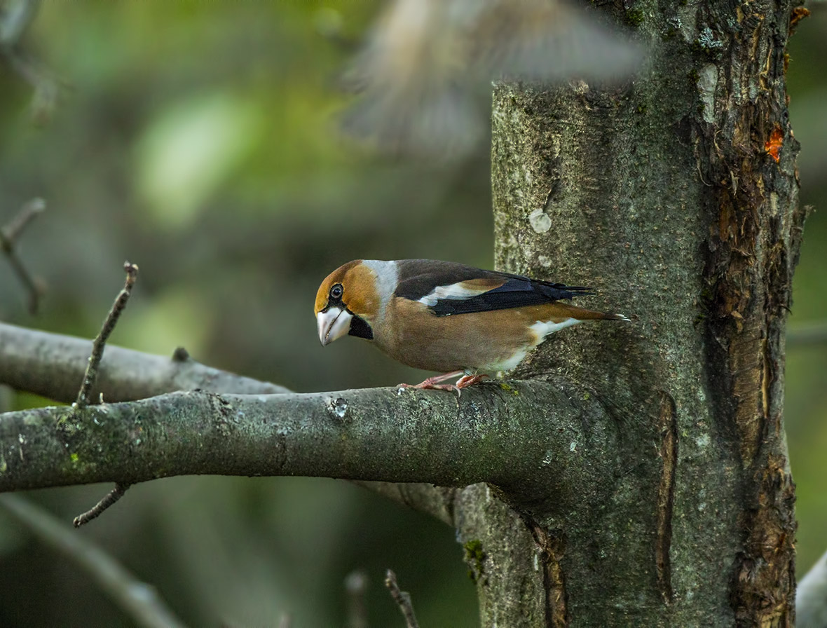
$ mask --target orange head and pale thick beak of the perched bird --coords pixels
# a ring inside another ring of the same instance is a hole
[[[340,266],[319,286],[314,312],[323,345],[345,334],[373,339],[371,323],[380,311],[376,273],[362,260]]]

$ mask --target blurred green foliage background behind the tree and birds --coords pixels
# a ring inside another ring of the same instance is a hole
[[[25,49],[64,83],[55,103],[0,65],[0,224],[44,215],[19,251],[41,313],[0,258],[0,319],[92,338],[141,276],[112,343],[294,391],[419,381],[356,340],[322,348],[319,282],[358,257],[493,264],[489,146],[445,165],[371,154],[337,131],[337,77],[379,2],[44,2]],[[827,549],[827,7],[791,39],[801,203],[786,427],[800,575]],[[576,283],[576,277],[562,278]],[[796,339],[798,338],[798,339]],[[45,403],[14,395],[12,408]],[[110,487],[27,496],[70,525]],[[345,624],[344,579],[368,579],[371,626],[400,626],[394,568],[423,626],[476,626],[453,530],[347,482],[179,477],[132,487],[77,531],[155,585],[192,626]],[[0,511],[0,626],[131,626],[88,576]]]

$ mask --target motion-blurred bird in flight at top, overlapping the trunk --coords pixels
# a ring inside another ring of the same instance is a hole
[[[495,79],[628,79],[643,50],[560,0],[392,0],[346,77],[345,131],[376,149],[462,156]]]

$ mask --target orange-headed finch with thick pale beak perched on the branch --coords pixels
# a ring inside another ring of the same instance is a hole
[[[409,367],[443,373],[400,386],[459,394],[513,369],[551,333],[584,320],[629,321],[563,302],[589,290],[453,261],[354,260],[325,277],[314,313],[323,346],[365,338]]]

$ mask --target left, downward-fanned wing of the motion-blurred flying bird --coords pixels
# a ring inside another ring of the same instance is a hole
[[[392,154],[463,154],[476,145],[480,112],[456,4],[390,2],[346,76],[360,94],[342,117],[347,134]]]

